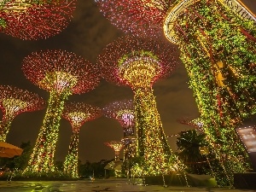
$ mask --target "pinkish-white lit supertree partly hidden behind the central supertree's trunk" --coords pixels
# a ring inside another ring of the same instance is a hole
[[[124,160],[136,156],[135,110],[131,100],[109,103],[102,109],[103,114],[108,118],[117,119],[124,131]]]

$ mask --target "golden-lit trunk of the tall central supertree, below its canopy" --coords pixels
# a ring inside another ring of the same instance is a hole
[[[167,170],[171,150],[156,108],[153,90],[134,90],[137,127],[137,154],[145,159],[146,174],[160,175]]]

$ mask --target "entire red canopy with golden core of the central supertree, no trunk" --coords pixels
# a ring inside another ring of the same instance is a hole
[[[146,38],[119,38],[103,49],[98,61],[104,79],[132,90],[151,89],[158,79],[172,73],[177,61],[170,44]],[[109,75],[112,73],[112,75]]]

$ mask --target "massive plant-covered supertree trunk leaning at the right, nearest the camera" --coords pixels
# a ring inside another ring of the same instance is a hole
[[[220,184],[232,184],[235,172],[249,168],[235,129],[255,113],[253,25],[217,1],[196,3],[174,25],[203,129],[223,167],[217,171]]]

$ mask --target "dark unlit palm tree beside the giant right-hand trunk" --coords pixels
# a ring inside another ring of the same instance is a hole
[[[202,174],[209,171],[207,158],[201,154],[200,148],[207,146],[206,135],[197,131],[182,131],[177,137],[178,156],[188,166],[190,173]]]

